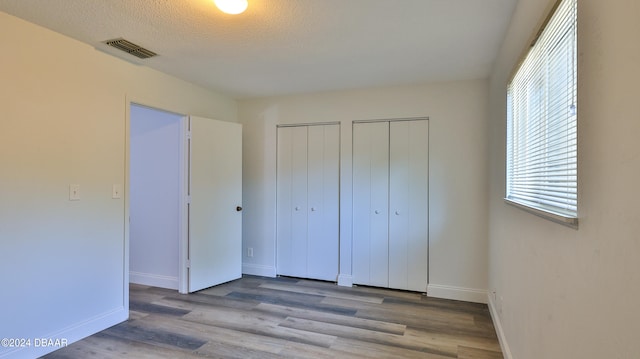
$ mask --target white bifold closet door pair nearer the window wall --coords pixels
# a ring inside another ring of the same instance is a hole
[[[426,291],[428,121],[353,125],[353,280]]]

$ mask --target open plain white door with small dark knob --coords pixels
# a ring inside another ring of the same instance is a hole
[[[242,125],[190,116],[189,292],[242,276]]]

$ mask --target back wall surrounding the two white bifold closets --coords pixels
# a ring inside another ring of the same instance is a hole
[[[348,284],[352,121],[429,116],[429,292],[486,301],[487,93],[488,83],[478,80],[240,101],[244,273],[275,275],[277,124],[342,124],[339,281]]]

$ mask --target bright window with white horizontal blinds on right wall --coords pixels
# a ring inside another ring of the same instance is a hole
[[[577,225],[577,0],[561,0],[507,88],[506,200]]]

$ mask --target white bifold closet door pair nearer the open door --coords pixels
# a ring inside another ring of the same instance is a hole
[[[278,128],[277,273],[336,281],[338,124]]]

